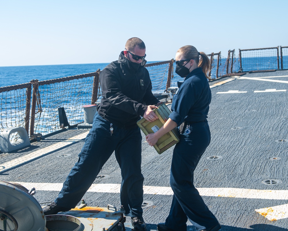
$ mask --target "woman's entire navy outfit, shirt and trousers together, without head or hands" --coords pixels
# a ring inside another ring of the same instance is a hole
[[[189,219],[196,230],[206,230],[218,224],[218,221],[195,188],[193,178],[194,170],[211,141],[206,120],[211,90],[201,68],[191,71],[178,87],[169,118],[177,125],[184,121],[188,125],[190,122],[187,128],[191,132],[180,134],[180,141],[173,149],[170,186],[174,195],[165,226],[186,231],[186,221]]]

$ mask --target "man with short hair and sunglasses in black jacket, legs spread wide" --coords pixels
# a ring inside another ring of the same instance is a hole
[[[119,60],[101,72],[102,99],[92,128],[58,198],[43,208],[45,215],[74,208],[115,151],[121,168],[120,200],[125,215],[131,217],[134,230],[146,230],[141,207],[144,180],[141,173],[142,136],[136,122],[140,116],[149,122],[158,119],[152,110],[161,102],[151,92],[151,80],[144,67],[145,51],[141,39],[128,39]]]

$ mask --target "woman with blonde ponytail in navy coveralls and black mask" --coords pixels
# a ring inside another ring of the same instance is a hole
[[[180,141],[175,145],[171,163],[172,205],[166,222],[159,223],[157,230],[186,231],[189,219],[197,231],[217,231],[220,224],[193,185],[194,170],[211,140],[206,120],[211,102],[206,74],[210,61],[193,46],[181,47],[175,60],[175,72],[185,79],[178,82],[167,122],[156,133],[146,136],[148,144],[153,146],[161,136],[180,125]]]

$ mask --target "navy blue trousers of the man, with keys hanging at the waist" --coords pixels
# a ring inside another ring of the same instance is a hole
[[[115,151],[122,176],[121,205],[124,206],[125,214],[132,217],[142,216],[144,177],[141,173],[140,128],[124,129],[113,125],[112,136],[109,128],[110,122],[96,112],[92,128],[78,155],[78,162],[67,176],[55,203],[62,207],[74,208]]]

